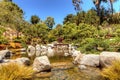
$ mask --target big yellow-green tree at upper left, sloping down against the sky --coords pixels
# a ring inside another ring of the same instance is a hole
[[[15,3],[2,1],[0,2],[0,11],[0,25],[16,30],[18,37],[24,22],[22,9]]]

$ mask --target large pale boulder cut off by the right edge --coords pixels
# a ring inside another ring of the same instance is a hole
[[[108,67],[112,64],[112,61],[120,59],[120,53],[118,52],[102,52],[100,53],[100,66],[102,68]]]

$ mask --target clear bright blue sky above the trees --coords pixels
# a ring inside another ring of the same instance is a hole
[[[75,14],[72,0],[13,0],[25,13],[25,19],[30,21],[32,15],[38,15],[42,20],[48,16],[55,19],[55,23],[62,24],[67,14]],[[87,11],[94,7],[92,0],[83,0],[82,9]],[[120,0],[114,3],[114,8],[120,11]]]

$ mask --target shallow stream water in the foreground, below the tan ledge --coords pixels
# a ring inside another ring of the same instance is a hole
[[[48,74],[48,73],[42,73]],[[79,70],[77,67],[70,69],[56,69],[49,73],[49,76],[35,78],[34,80],[105,80],[100,75],[97,68],[89,68],[87,70]]]

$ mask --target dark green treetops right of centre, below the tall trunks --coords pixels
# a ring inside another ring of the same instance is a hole
[[[68,14],[63,21],[63,24],[67,23],[75,23],[76,25],[85,23],[89,25],[98,26],[100,24],[100,19],[99,16],[97,16],[95,10],[89,10],[88,12],[78,12],[77,15]]]

